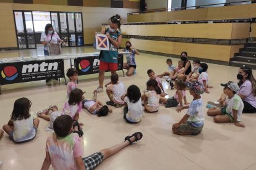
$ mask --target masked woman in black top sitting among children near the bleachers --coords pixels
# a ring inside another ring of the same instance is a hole
[[[187,52],[183,51],[181,53],[181,60],[183,61],[183,67],[184,69],[181,71],[181,73],[172,76],[171,79],[186,79],[187,75],[191,72],[191,63],[187,59]]]

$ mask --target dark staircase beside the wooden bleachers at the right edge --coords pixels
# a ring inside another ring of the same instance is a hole
[[[245,44],[244,48],[239,50],[239,53],[234,54],[229,65],[234,67],[250,67],[256,70],[256,42]]]

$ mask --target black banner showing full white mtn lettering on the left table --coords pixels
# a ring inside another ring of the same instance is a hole
[[[63,78],[64,62],[58,59],[1,63],[0,72],[0,85]]]

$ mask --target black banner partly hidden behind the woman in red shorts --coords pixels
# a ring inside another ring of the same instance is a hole
[[[122,54],[117,57],[117,70],[122,70],[124,58]],[[78,75],[90,75],[99,73],[100,60],[98,56],[79,57],[75,59],[75,68]]]

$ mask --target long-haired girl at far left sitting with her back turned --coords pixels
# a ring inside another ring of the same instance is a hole
[[[28,142],[36,136],[39,119],[30,111],[31,102],[25,97],[15,100],[11,119],[2,129],[15,143]]]

